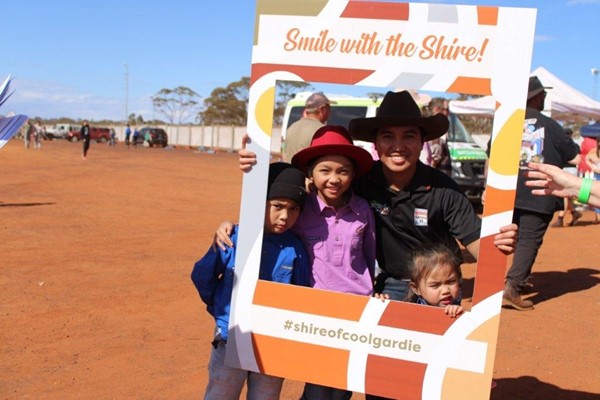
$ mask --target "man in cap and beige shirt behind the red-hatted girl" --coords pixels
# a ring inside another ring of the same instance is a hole
[[[294,122],[285,134],[284,161],[290,161],[294,154],[308,147],[310,141],[320,127],[325,125],[331,113],[330,101],[323,92],[315,92],[307,99],[302,118]]]

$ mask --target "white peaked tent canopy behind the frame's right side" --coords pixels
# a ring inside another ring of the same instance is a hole
[[[578,90],[572,88],[558,79],[544,67],[538,67],[531,73],[537,76],[547,89],[544,113],[556,116],[560,113],[572,113],[592,119],[600,119],[600,102],[593,100]],[[495,100],[492,96],[485,96],[471,100],[451,100],[450,111],[456,114],[475,114],[493,116]]]

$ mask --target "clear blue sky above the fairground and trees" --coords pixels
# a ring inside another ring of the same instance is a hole
[[[590,97],[596,81],[600,99],[600,77],[591,72],[600,68],[600,0],[444,3],[538,8],[532,70],[543,66]],[[128,112],[152,119],[150,97],[163,88],[186,86],[208,97],[250,75],[255,6],[252,0],[4,2],[0,80],[11,74],[16,91],[1,111],[124,119],[127,93]]]

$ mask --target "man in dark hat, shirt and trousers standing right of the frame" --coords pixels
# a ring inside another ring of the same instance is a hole
[[[524,132],[533,132],[542,138],[541,154],[535,158],[542,157],[543,162],[557,167],[565,163],[577,165],[581,159],[579,146],[565,135],[558,122],[542,114],[546,89],[549,88],[544,87],[536,76],[529,78]],[[521,311],[533,309],[533,302],[523,299],[521,294],[529,284],[533,264],[554,212],[562,208],[562,201],[559,203],[556,198],[532,195],[525,186],[524,173],[525,169],[520,169],[513,212],[513,222],[519,226],[517,247],[504,286],[505,304]]]

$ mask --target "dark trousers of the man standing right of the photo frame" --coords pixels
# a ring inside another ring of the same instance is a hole
[[[550,221],[552,221],[552,214],[540,214],[515,208],[513,222],[519,226],[517,247],[506,280],[518,292],[523,290],[531,274]]]

